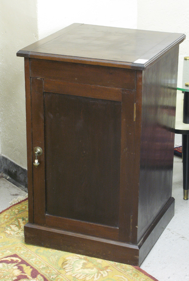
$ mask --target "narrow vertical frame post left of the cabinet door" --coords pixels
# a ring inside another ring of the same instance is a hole
[[[24,59],[25,92],[26,92],[26,137],[27,137],[27,181],[28,181],[28,220],[33,223],[33,176],[32,176],[32,119],[31,119],[31,87],[30,59]]]

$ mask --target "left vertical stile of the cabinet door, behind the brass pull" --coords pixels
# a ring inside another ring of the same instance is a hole
[[[45,225],[45,147],[44,147],[44,108],[43,79],[31,79],[31,112],[32,112],[32,156],[35,161],[34,147],[40,147],[43,154],[39,156],[39,167],[33,166],[33,207],[34,223]],[[38,114],[40,113],[40,114]]]

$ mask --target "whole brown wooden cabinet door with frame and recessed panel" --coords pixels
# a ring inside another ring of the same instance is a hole
[[[32,78],[33,162],[34,147],[43,150],[33,166],[35,224],[129,239],[132,192],[126,181],[132,176],[126,166],[132,163],[131,157],[125,163],[124,140],[133,127],[127,130],[122,105],[126,100],[133,108],[134,94],[122,92]]]

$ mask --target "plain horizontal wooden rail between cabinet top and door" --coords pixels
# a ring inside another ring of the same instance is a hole
[[[136,71],[118,67],[31,59],[31,77],[135,90]]]

